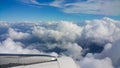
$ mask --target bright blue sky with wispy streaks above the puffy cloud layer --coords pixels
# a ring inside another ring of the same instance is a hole
[[[103,17],[120,20],[119,4],[120,0],[0,0],[0,20],[81,22]]]

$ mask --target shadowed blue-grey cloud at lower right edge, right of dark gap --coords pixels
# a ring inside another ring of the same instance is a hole
[[[120,66],[120,40],[117,40],[113,43],[108,43],[107,45],[105,45],[105,49],[103,50],[103,52],[101,54],[99,54],[99,57],[109,57],[113,64],[115,66]]]

